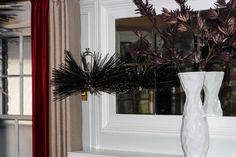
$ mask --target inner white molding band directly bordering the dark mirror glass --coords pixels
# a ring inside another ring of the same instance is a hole
[[[164,6],[173,0],[162,1],[160,4]],[[101,4],[101,23],[104,27],[101,27],[101,49],[102,52],[109,53],[115,52],[115,19],[121,17],[130,17],[129,11],[124,11],[126,8],[130,7],[131,3],[126,3],[125,0],[102,0]],[[209,8],[210,4],[214,1],[205,2],[203,0],[193,0],[189,1],[190,4],[195,4],[196,8],[203,7],[201,2],[204,2],[204,7]],[[174,3],[168,4],[169,6]],[[118,8],[116,8],[118,6]],[[123,8],[121,9],[120,6]],[[205,9],[204,8],[204,9]],[[121,13],[122,10],[123,12]],[[133,10],[134,12],[134,10]],[[109,50],[109,52],[107,51]],[[181,116],[160,116],[160,115],[117,115],[115,106],[115,97],[112,95],[104,94],[102,96],[102,131],[107,132],[122,132],[132,131],[132,132],[146,132],[146,133],[173,133],[179,134]],[[146,122],[149,121],[149,124]],[[219,136],[235,136],[232,132],[236,133],[236,125],[232,125],[232,122],[236,121],[234,117],[209,117],[211,135]],[[172,124],[173,123],[173,124]],[[107,125],[105,125],[107,124]],[[145,127],[143,127],[145,124]],[[172,124],[172,125],[169,125]],[[217,124],[217,125],[216,125]],[[155,126],[154,126],[155,125]],[[160,127],[161,126],[161,127]],[[117,127],[119,130],[117,130]],[[133,127],[133,128],[132,128]],[[138,128],[138,131],[137,129]],[[143,128],[143,129],[142,129]],[[222,128],[222,129],[220,129]],[[142,131],[143,130],[143,131]],[[224,131],[223,131],[224,130]]]

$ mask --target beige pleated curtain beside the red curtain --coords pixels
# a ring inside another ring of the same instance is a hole
[[[64,60],[69,50],[79,60],[80,1],[50,0],[50,69]],[[50,156],[66,157],[82,149],[82,107],[80,95],[50,103]]]

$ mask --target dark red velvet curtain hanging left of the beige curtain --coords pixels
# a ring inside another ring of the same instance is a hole
[[[49,0],[31,0],[33,157],[49,157]]]

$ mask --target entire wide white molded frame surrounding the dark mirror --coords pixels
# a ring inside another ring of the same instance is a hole
[[[174,0],[149,0],[157,12],[174,9]],[[194,9],[208,9],[213,0],[189,0]],[[104,54],[115,52],[115,19],[135,17],[132,0],[81,0],[81,15],[87,17],[86,46]],[[83,21],[81,21],[83,25]],[[83,30],[82,30],[83,32]],[[83,35],[82,35],[83,40]],[[83,45],[82,45],[83,47]],[[83,104],[84,148],[182,155],[181,116],[116,114],[115,96],[89,96]],[[236,117],[208,117],[211,157],[236,156]],[[230,139],[230,140],[229,140]]]

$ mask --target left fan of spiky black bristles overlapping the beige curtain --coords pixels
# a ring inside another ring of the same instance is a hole
[[[74,93],[88,90],[89,75],[78,66],[69,51],[65,51],[65,63],[54,69],[51,81],[55,99],[64,99]]]

